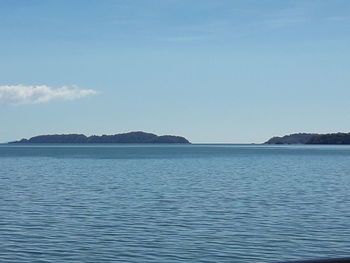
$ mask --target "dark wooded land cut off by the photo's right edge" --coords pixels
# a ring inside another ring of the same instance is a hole
[[[273,137],[265,144],[350,144],[350,133],[295,133]]]

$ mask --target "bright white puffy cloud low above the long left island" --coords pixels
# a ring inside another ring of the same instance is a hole
[[[95,90],[79,89],[76,86],[52,88],[46,85],[0,86],[0,104],[36,104],[53,100],[75,100],[96,94]]]

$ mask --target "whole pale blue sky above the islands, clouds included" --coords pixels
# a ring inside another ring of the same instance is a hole
[[[1,0],[0,142],[350,132],[349,0]]]

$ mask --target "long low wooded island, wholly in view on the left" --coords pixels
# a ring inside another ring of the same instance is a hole
[[[84,134],[39,135],[30,139],[22,139],[13,143],[181,143],[190,142],[181,136],[157,136],[147,132],[128,132],[115,135],[85,136]]]

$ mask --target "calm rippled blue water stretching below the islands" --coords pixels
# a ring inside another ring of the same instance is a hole
[[[349,255],[348,146],[0,146],[0,262]]]

